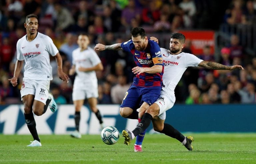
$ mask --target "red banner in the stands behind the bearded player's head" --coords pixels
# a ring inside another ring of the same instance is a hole
[[[202,54],[205,45],[209,45],[211,54],[214,54],[214,31],[179,31],[179,33],[185,35],[185,47],[190,44],[193,54]]]

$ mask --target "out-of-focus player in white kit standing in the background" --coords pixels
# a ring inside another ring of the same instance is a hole
[[[97,109],[98,98],[98,80],[95,71],[102,71],[103,65],[97,53],[88,47],[90,41],[87,35],[80,34],[77,44],[79,47],[72,53],[72,67],[69,70],[69,75],[76,72],[76,77],[73,85],[73,102],[75,105],[75,125],[76,130],[71,133],[72,137],[81,138],[79,132],[80,111],[87,99],[90,109],[98,118],[101,128],[104,128],[100,111]]]

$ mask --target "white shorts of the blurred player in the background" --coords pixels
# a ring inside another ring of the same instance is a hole
[[[93,83],[84,83],[83,81],[76,80],[74,81],[72,98],[73,101],[76,100],[85,100],[89,98],[98,98],[98,82]]]

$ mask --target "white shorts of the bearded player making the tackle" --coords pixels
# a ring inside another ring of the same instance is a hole
[[[175,95],[165,95],[162,94],[159,96],[159,98],[155,101],[155,103],[160,107],[159,110],[159,119],[165,120],[166,118],[166,112],[167,110],[171,109],[175,103]]]

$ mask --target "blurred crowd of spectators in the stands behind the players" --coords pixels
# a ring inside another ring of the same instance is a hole
[[[221,5],[219,5],[221,4]],[[221,23],[253,24],[256,18],[254,0],[2,0],[0,2],[0,104],[20,104],[20,87],[12,87],[16,62],[16,43],[25,35],[24,22],[28,14],[39,17],[38,31],[51,37],[63,59],[63,72],[72,65],[72,51],[78,47],[77,36],[86,32],[90,47],[97,43],[110,45],[130,39],[130,29],[141,26],[147,33],[171,34],[180,29],[210,29],[217,31]],[[150,36],[148,36],[150,37]],[[249,55],[232,34],[230,44],[221,49],[215,60],[209,46],[203,54],[206,61],[225,65],[242,65],[245,70],[223,71],[188,68],[175,89],[176,103],[229,104],[255,103],[256,56]],[[159,43],[161,46],[161,42]],[[169,48],[169,47],[164,47]],[[191,52],[189,46],[184,49]],[[132,55],[125,51],[97,52],[103,71],[97,71],[99,104],[121,104],[133,81]],[[254,54],[255,55],[255,54]],[[62,82],[53,68],[52,92],[56,103],[72,104],[72,84]]]

